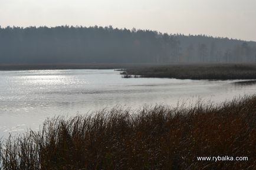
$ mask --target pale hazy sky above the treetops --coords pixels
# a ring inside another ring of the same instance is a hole
[[[256,41],[256,0],[0,0],[0,25],[113,25]]]

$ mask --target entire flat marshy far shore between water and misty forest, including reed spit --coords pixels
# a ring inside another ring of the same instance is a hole
[[[123,78],[256,79],[256,64],[0,64],[0,71],[114,69]]]

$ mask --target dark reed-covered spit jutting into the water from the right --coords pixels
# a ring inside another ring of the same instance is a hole
[[[190,64],[133,66],[122,75],[137,75],[146,78],[177,79],[256,79],[255,64]],[[130,76],[131,78],[132,76]]]

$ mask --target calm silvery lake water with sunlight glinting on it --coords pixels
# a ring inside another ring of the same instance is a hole
[[[222,102],[255,94],[256,85],[235,81],[160,78],[124,79],[113,70],[0,71],[0,136],[38,129],[54,115],[86,114],[101,108],[193,102]]]

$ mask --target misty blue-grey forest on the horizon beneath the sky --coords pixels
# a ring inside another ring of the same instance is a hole
[[[256,62],[256,42],[112,26],[0,27],[0,64]]]

